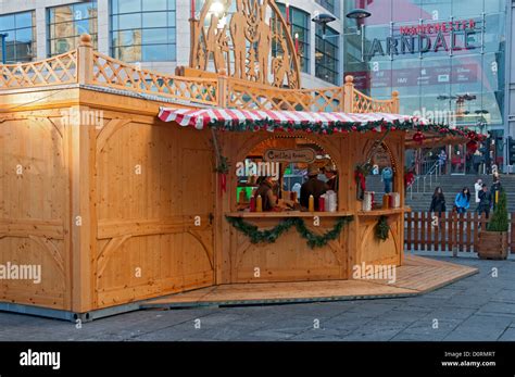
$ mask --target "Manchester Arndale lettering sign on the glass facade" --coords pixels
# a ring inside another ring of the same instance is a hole
[[[401,26],[398,35],[375,38],[365,55],[372,59],[378,55],[472,50],[480,47],[470,38],[476,34],[476,25],[474,20],[463,20]]]

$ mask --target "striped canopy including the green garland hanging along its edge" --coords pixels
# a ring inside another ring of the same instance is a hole
[[[159,113],[163,122],[176,122],[184,127],[203,129],[212,127],[228,131],[304,131],[319,135],[351,131],[403,130],[413,134],[413,139],[422,143],[423,134],[432,140],[453,139],[456,142],[480,141],[483,135],[467,127],[450,127],[435,124],[426,118],[388,113],[329,113],[275,110],[236,110],[236,109],[171,109],[161,108]],[[411,136],[411,135],[410,135]]]

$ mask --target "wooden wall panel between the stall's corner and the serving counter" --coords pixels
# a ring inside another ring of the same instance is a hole
[[[95,307],[213,285],[209,131],[105,116],[96,148]]]

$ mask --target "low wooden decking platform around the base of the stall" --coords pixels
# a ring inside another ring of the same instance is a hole
[[[422,294],[477,272],[474,267],[406,254],[392,284],[380,279],[231,284],[145,301],[141,309],[399,298]]]

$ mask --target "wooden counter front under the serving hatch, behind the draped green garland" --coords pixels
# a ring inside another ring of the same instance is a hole
[[[350,211],[285,211],[230,212],[225,215],[243,219],[260,231],[272,229],[289,218],[299,218],[310,231],[323,236],[332,230],[340,218],[354,214]],[[307,239],[299,234],[296,226],[284,231],[275,242],[252,243],[248,236],[229,225],[224,240],[229,255],[230,279],[233,282],[347,279],[349,231],[353,223],[346,224],[336,239],[314,249],[309,247]]]

